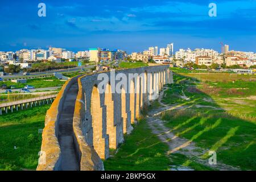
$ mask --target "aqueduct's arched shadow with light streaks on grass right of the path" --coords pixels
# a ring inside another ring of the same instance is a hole
[[[209,151],[216,151],[217,159],[225,164],[255,170],[256,121],[251,117],[244,119],[229,114],[208,94],[197,89],[199,82],[196,78],[174,74],[174,84],[168,85],[169,89],[165,91],[164,104],[182,105],[183,108],[166,111],[162,119],[171,128],[170,132],[188,139],[174,151],[169,151],[170,154],[195,142],[201,148],[209,148],[200,156],[202,159],[210,157]],[[180,97],[182,94],[185,97]]]

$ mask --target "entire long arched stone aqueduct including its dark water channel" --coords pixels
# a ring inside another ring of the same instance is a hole
[[[104,170],[101,159],[109,157],[109,148],[116,149],[133,130],[143,106],[154,100],[153,92],[172,81],[169,65],[104,73],[123,74],[120,80],[127,79],[127,85],[121,93],[100,93],[100,73],[74,77],[60,90],[47,111],[37,170]],[[111,84],[105,88],[112,90]]]

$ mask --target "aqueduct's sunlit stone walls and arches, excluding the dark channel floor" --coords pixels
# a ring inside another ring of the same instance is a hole
[[[129,73],[134,73],[135,77],[130,77]],[[110,92],[101,93],[102,80],[99,78],[102,73],[72,79],[78,81],[79,85],[73,130],[81,170],[104,170],[101,159],[109,157],[109,148],[116,149],[124,141],[123,135],[133,130],[131,124],[137,122],[143,106],[156,99],[154,93],[159,92],[164,84],[172,82],[168,65],[122,69],[104,72],[103,75],[109,77],[104,90]],[[114,81],[110,79],[113,77],[116,77]],[[121,84],[123,79],[126,79],[126,84]],[[46,151],[46,164],[39,164],[38,170],[59,169],[61,159],[55,128],[63,105],[62,97],[65,96],[69,82],[63,86],[56,102],[47,111],[42,142],[42,151]],[[122,91],[113,92],[118,87]]]

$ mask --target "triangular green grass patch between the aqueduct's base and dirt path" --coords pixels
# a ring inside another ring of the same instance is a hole
[[[105,170],[167,170],[170,164],[167,144],[151,133],[144,119],[134,128],[118,151],[110,152],[110,155],[117,154],[104,161]]]

